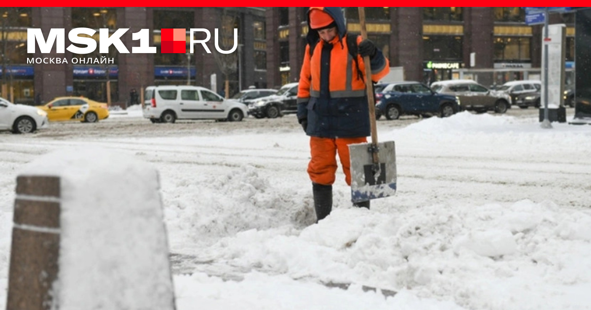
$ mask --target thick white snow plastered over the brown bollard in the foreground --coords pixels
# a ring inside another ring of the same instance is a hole
[[[51,165],[47,165],[51,162]],[[60,177],[60,309],[173,309],[154,168],[125,154],[64,148],[23,175]]]

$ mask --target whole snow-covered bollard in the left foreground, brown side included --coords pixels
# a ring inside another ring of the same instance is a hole
[[[174,310],[163,217],[158,171],[134,156],[40,156],[17,178],[7,310]]]

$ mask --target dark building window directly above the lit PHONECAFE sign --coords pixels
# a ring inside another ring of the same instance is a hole
[[[424,60],[462,60],[460,36],[430,35],[423,37]]]

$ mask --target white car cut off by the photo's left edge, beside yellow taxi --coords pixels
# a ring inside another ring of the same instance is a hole
[[[0,97],[0,130],[31,133],[47,128],[47,113],[34,106],[15,105]]]

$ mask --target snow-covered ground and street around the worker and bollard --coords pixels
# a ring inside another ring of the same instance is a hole
[[[104,123],[147,122],[128,112]],[[353,208],[339,170],[335,207],[318,224],[298,126],[0,135],[0,309],[15,178],[74,145],[160,172],[178,310],[591,309],[591,126],[468,112],[384,124],[397,194]]]

